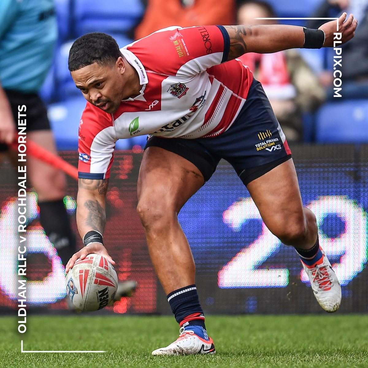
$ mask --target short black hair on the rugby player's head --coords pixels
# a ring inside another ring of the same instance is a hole
[[[123,56],[114,38],[106,33],[93,32],[76,39],[71,46],[68,59],[70,71],[93,63],[107,64]]]

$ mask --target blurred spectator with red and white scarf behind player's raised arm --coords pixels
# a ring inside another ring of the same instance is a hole
[[[276,24],[276,20],[256,19],[275,17],[273,7],[266,1],[243,1],[238,5],[238,24]],[[247,53],[240,60],[262,83],[287,140],[301,141],[303,114],[318,109],[325,98],[325,91],[298,50],[273,54]]]

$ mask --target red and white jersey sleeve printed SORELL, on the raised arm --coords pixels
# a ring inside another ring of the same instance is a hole
[[[146,70],[191,77],[227,60],[230,38],[223,26],[173,26],[127,47]]]

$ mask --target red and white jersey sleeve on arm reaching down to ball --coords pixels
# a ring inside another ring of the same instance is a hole
[[[116,140],[112,116],[87,102],[78,130],[78,177],[109,178]]]

